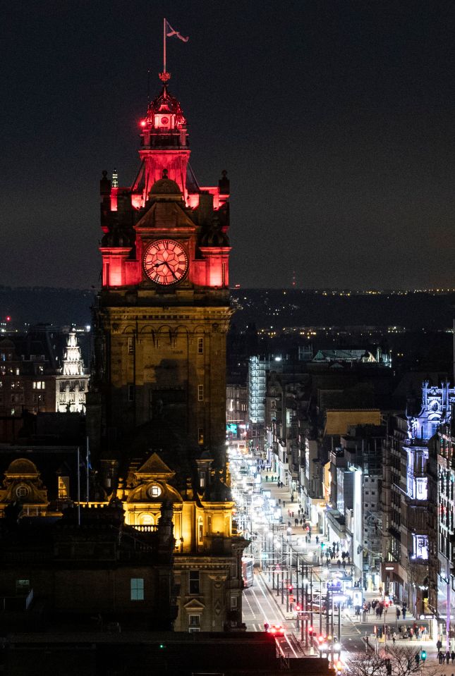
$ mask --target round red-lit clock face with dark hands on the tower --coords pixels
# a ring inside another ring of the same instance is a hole
[[[183,246],[174,240],[157,240],[145,250],[143,266],[152,282],[176,284],[188,272],[188,255]]]

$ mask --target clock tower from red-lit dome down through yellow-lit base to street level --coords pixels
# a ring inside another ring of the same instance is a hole
[[[200,188],[167,79],[140,122],[128,188],[101,180],[102,290],[87,397],[92,462],[126,523],[174,508],[178,631],[241,627],[241,553],[226,485],[229,180]]]

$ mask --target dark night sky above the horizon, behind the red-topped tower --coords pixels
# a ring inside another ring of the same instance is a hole
[[[231,285],[454,284],[455,4],[4,3],[0,284],[99,285],[99,178],[129,185],[170,91],[201,185],[231,179]]]

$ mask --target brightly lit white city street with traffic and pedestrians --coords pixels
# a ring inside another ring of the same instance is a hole
[[[321,553],[330,546],[327,538],[318,534],[316,541],[313,529],[310,542],[306,541],[308,535],[305,538],[300,515],[298,526],[295,524],[296,517],[289,516],[289,513],[298,514],[299,506],[291,503],[288,488],[278,487],[264,469],[257,472],[257,459],[248,454],[244,444],[240,446],[243,453],[240,453],[238,443],[231,445],[231,472],[234,495],[238,501],[238,522],[245,529],[245,535],[251,538],[244,558],[253,556],[255,562],[253,578],[245,580],[248,586],[243,591],[243,621],[247,631],[263,632],[269,627],[282,627],[284,636],[277,637],[277,648],[289,658],[321,655],[332,660],[333,642],[334,663],[338,665],[348,665],[350,660],[358,660],[359,656],[363,658],[371,651],[386,655],[389,648],[395,645],[412,650],[415,648],[416,652],[423,649],[427,663],[437,662],[437,648],[435,641],[430,640],[427,620],[418,622],[418,626],[423,628],[421,640],[411,641],[401,636],[415,625],[415,618],[407,614],[405,620],[401,616],[398,619],[396,606],[391,601],[380,618],[376,617],[372,609],[370,613],[356,615],[354,605],[349,604],[350,595],[357,592],[362,603],[371,603],[375,598],[381,598],[379,590],[365,592],[357,586],[353,587],[350,565],[327,565],[325,558],[322,565]],[[273,503],[272,510],[254,507],[265,506],[261,495],[269,495],[269,503]],[[272,520],[269,519],[270,514]],[[325,600],[327,588],[332,586],[332,589],[337,590],[339,581],[344,593],[334,595],[332,623],[332,612],[329,611],[327,618],[323,608],[321,615],[318,603],[321,591]],[[380,632],[386,634],[385,641],[378,638]],[[334,639],[331,642],[327,637]],[[451,674],[450,668],[451,665],[444,664],[442,670]]]

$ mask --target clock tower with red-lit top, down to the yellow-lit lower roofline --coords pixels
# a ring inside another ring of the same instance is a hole
[[[89,423],[105,479],[126,476],[150,448],[178,453],[183,465],[203,450],[219,464],[224,457],[229,180],[223,172],[218,185],[198,185],[186,118],[167,82],[140,132],[133,184],[113,187],[106,172],[100,184]]]

